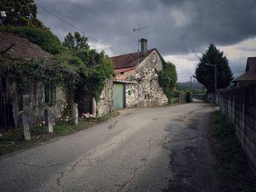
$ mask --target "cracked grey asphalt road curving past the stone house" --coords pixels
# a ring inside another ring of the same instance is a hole
[[[0,160],[0,191],[219,191],[198,100],[122,110],[108,122]]]

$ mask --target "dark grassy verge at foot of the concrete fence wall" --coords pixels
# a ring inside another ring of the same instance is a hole
[[[220,111],[213,112],[213,126],[209,134],[211,147],[217,155],[217,176],[222,191],[256,191],[255,177],[246,163],[236,129]]]

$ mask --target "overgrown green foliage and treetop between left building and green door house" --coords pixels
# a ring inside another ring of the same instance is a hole
[[[81,36],[79,32],[75,32],[74,36],[69,33],[65,37],[63,45],[67,48],[66,52],[80,61],[78,65],[80,76],[76,91],[91,93],[91,96],[98,101],[105,80],[113,77],[113,64],[103,51],[97,53],[96,50],[90,49],[87,40],[88,38]]]

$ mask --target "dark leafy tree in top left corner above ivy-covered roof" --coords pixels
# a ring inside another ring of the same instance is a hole
[[[0,15],[1,25],[45,28],[37,18],[37,5],[34,0],[1,0],[0,11],[6,14]]]

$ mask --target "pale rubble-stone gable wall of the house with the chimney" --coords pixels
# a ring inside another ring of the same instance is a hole
[[[155,63],[152,62],[153,54],[157,55],[157,62]],[[162,70],[162,61],[154,50],[136,69],[116,76],[116,80],[129,81],[125,84],[126,107],[167,104],[168,99],[158,82],[157,72],[160,70]]]

